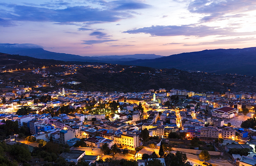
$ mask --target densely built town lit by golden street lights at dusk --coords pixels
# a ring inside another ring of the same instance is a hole
[[[128,165],[255,164],[255,93],[165,88],[42,93],[25,85],[5,90],[1,139],[8,146],[25,145],[32,153],[17,160],[29,165],[108,165],[122,159]],[[63,148],[51,154],[50,146]]]

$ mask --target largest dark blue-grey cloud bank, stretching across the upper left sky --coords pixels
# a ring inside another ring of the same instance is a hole
[[[105,23],[116,22],[130,18],[127,12],[117,12],[110,9],[92,8],[90,6],[68,6],[61,9],[35,7],[15,4],[0,4],[12,10],[12,12],[0,11],[4,19],[10,21],[48,21],[57,24],[76,23]]]

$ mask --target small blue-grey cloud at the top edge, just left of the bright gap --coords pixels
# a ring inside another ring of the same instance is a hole
[[[112,1],[110,5],[113,6],[113,10],[145,9],[151,7],[151,5],[131,0]]]

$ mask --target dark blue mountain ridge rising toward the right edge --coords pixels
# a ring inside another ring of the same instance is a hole
[[[205,71],[219,74],[256,75],[256,47],[215,49],[174,54],[156,59],[118,62],[118,64],[152,68],[176,68],[186,71]]]

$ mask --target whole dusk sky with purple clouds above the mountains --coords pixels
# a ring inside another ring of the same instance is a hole
[[[2,0],[0,43],[80,56],[247,48],[255,15],[255,0]]]

